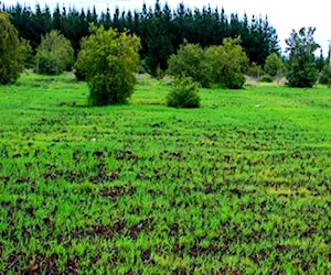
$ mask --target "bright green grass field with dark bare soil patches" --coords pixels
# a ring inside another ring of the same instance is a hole
[[[87,108],[74,76],[0,87],[0,273],[328,274],[331,89]]]

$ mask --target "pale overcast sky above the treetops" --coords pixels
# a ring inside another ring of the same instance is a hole
[[[4,2],[6,6],[11,6],[15,4],[18,1],[0,0],[0,2]],[[63,3],[65,3],[65,6],[75,7],[76,9],[81,9],[82,7],[89,7],[92,9],[95,4],[97,12],[100,13],[102,11],[106,11],[107,7],[109,7],[110,12],[113,12],[117,6],[120,8],[120,10],[138,9],[140,11],[143,2],[153,7],[156,0],[25,0],[19,2],[21,4],[30,4],[32,8],[36,3],[40,3],[42,8],[45,3],[47,3],[51,10],[54,9],[57,2],[61,7]],[[163,0],[160,2],[162,6],[166,3]],[[328,40],[331,40],[331,29],[329,30],[329,24],[331,23],[329,23],[331,9],[329,8],[330,6],[328,4],[328,0],[168,0],[167,2],[172,10],[175,9],[180,2],[184,2],[185,6],[190,6],[192,8],[196,7],[199,9],[202,9],[203,6],[207,6],[210,3],[212,8],[218,7],[218,10],[224,7],[227,14],[237,12],[241,18],[243,16],[244,12],[247,13],[248,18],[252,18],[253,14],[261,14],[263,16],[268,15],[269,23],[277,30],[279,42],[282,48],[285,48],[284,41],[290,35],[292,29],[298,31],[301,26],[316,26],[317,31],[314,34],[314,40],[322,46],[324,55],[328,53]]]

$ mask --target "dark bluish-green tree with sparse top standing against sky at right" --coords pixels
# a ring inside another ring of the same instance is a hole
[[[319,45],[313,41],[316,28],[295,30],[286,40],[289,53],[287,80],[290,87],[311,88],[318,79],[314,52]]]

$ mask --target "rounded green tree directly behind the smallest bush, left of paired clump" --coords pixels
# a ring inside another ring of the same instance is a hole
[[[212,64],[206,59],[205,51],[193,44],[182,45],[177,55],[170,56],[168,73],[175,77],[191,77],[202,87],[213,84]]]

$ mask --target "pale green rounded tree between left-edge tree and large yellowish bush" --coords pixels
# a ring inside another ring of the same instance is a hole
[[[58,75],[63,70],[72,69],[74,50],[71,42],[58,31],[51,31],[42,36],[35,54],[35,73]]]

